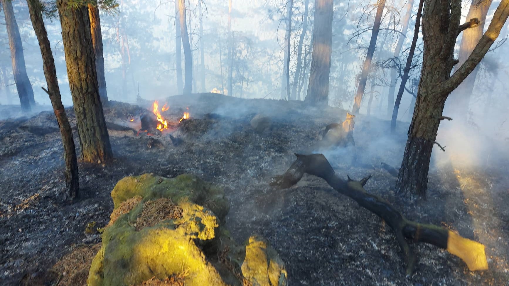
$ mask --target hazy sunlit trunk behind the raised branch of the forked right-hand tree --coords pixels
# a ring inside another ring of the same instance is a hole
[[[456,68],[463,65],[468,56],[472,53],[475,45],[479,42],[480,38],[483,37],[486,15],[488,14],[491,2],[492,0],[472,0],[466,19],[468,21],[470,19],[477,18],[479,20],[479,24],[463,31]],[[451,116],[458,121],[465,122],[467,120],[466,115],[468,114],[468,105],[470,104],[470,97],[472,96],[472,91],[474,89],[477,71],[478,68],[475,68],[467,76],[466,80],[464,80],[459,87],[451,93],[449,100],[447,101],[445,109],[450,109],[450,112],[452,113]]]

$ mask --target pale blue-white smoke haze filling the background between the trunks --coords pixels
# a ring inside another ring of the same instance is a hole
[[[493,2],[488,12],[487,23],[498,6]],[[222,91],[225,94],[242,98],[286,99],[284,76],[284,46],[286,29],[286,3],[274,1],[233,1],[231,14],[231,46],[234,66],[233,91],[228,91],[228,2],[206,1],[203,6],[197,0],[189,2],[188,28],[193,50],[193,92]],[[329,105],[351,110],[356,90],[357,76],[365,56],[366,46],[371,36],[374,1],[337,1],[334,2],[332,62],[329,84]],[[35,100],[43,109],[50,109],[47,95],[41,90],[46,87],[42,72],[42,60],[35,34],[25,2],[13,2],[16,20],[19,26],[25,55],[26,69],[34,88]],[[361,114],[367,113],[379,120],[390,118],[388,114],[388,85],[393,49],[399,34],[393,30],[401,29],[403,13],[407,1],[390,1],[382,19],[382,30],[378,37],[371,72]],[[465,21],[470,2],[463,3]],[[200,10],[201,8],[201,10]],[[400,63],[404,63],[415,22],[417,5],[414,4],[410,18],[409,32],[403,44]],[[292,18],[290,83],[297,80],[300,84],[300,98],[305,98],[309,72],[309,60],[303,63],[306,76],[295,78],[297,44],[302,33],[304,1],[294,2]],[[375,9],[376,10],[376,9]],[[303,38],[303,53],[308,52],[312,40],[314,1],[309,3],[308,24]],[[398,12],[399,11],[399,12]],[[5,21],[4,16],[0,16]],[[203,34],[200,34],[200,20]],[[485,30],[488,25],[485,25]],[[55,56],[56,70],[66,106],[72,105],[68,88],[65,56],[62,45],[61,28],[58,17],[46,21],[49,40]],[[172,3],[147,3],[139,0],[120,2],[118,11],[104,12],[101,15],[102,36],[104,41],[104,60],[107,92],[110,100],[136,102],[138,97],[147,100],[161,99],[179,94],[176,76],[176,40],[175,7]],[[487,164],[487,157],[499,157],[497,152],[506,152],[509,148],[498,148],[509,144],[509,93],[507,78],[509,66],[505,43],[507,27],[504,27],[492,51],[488,52],[479,65],[470,111],[466,119],[453,118],[443,121],[438,132],[437,142],[447,146],[447,152],[434,152],[435,159],[442,160],[447,153],[469,154],[470,163]],[[204,44],[204,67],[200,54],[201,41]],[[457,41],[459,50],[461,35]],[[0,89],[0,104],[18,105],[19,99],[12,77],[9,43],[5,28],[0,29],[0,68],[3,85]],[[416,93],[416,84],[420,74],[422,56],[422,35],[419,35],[417,50],[410,72],[407,88]],[[182,64],[184,60],[182,55]],[[202,86],[202,75],[205,86]],[[300,83],[301,82],[301,83]],[[397,82],[399,88],[399,81]],[[373,97],[370,101],[370,97]],[[410,106],[412,96],[405,91],[400,106],[399,120],[409,122],[413,112]],[[242,106],[220,106],[217,112],[231,116],[243,115],[249,110]],[[368,107],[370,105],[370,107]],[[446,104],[444,116],[454,112],[455,106]],[[9,116],[19,116],[11,113]],[[5,116],[4,116],[5,117]],[[406,126],[406,125],[405,125]],[[505,144],[505,145],[504,145]],[[386,142],[380,142],[385,146]],[[378,146],[373,142],[373,146]],[[437,146],[438,148],[438,146]],[[437,149],[440,151],[440,149]],[[490,152],[490,150],[493,150]],[[486,155],[487,152],[490,154]],[[478,156],[477,154],[485,154]]]

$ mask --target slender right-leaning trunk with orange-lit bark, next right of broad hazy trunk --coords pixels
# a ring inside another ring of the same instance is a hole
[[[360,109],[360,103],[364,90],[366,89],[367,75],[370,73],[371,61],[373,60],[373,54],[377,45],[378,32],[380,31],[380,22],[382,21],[383,9],[385,8],[385,0],[378,0],[377,13],[375,15],[375,22],[373,24],[373,31],[371,33],[370,46],[367,47],[366,59],[362,66],[362,72],[360,73],[359,85],[357,87],[357,93],[355,94],[355,101],[353,105],[353,112],[358,113]]]

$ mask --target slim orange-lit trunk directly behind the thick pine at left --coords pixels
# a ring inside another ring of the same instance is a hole
[[[90,32],[92,33],[92,45],[97,68],[97,83],[99,85],[99,96],[102,104],[108,103],[108,93],[106,92],[106,79],[104,77],[104,53],[102,49],[101,19],[99,18],[99,8],[97,3],[89,4]]]

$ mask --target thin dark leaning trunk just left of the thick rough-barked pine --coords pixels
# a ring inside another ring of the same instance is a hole
[[[35,35],[39,41],[41,49],[42,63],[44,70],[44,77],[48,84],[48,95],[55,112],[56,121],[59,123],[60,134],[62,135],[62,143],[64,146],[64,160],[65,160],[65,181],[69,197],[74,198],[78,195],[79,180],[78,180],[78,161],[76,159],[76,148],[74,146],[74,139],[72,136],[71,125],[67,120],[64,105],[62,104],[60,88],[58,80],[56,79],[55,61],[51,53],[51,46],[49,45],[46,27],[42,19],[41,11],[38,10],[38,0],[27,0],[29,6],[30,19],[34,27]]]

